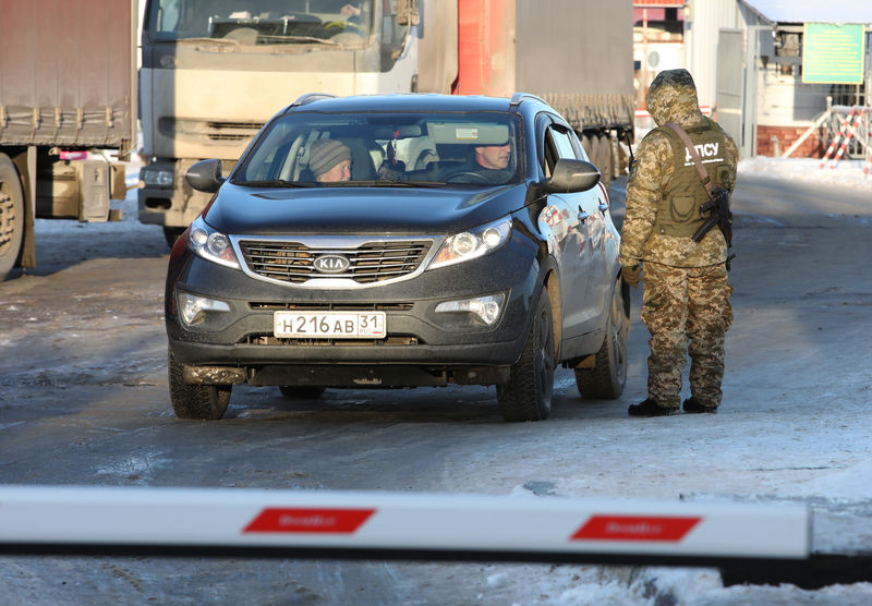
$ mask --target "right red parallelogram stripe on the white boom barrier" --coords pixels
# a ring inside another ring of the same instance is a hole
[[[572,541],[681,541],[702,518],[592,516]]]

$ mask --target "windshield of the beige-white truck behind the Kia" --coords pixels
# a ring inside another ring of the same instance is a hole
[[[373,0],[153,0],[153,40],[223,38],[243,45],[354,44],[370,36]]]

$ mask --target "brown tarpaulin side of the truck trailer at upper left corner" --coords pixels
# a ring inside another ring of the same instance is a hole
[[[131,0],[0,0],[0,141],[111,146],[135,133]]]

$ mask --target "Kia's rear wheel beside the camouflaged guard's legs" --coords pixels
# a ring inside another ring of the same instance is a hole
[[[611,295],[606,337],[593,368],[576,368],[579,393],[590,400],[617,400],[627,383],[627,341],[630,335],[630,289],[618,280]]]

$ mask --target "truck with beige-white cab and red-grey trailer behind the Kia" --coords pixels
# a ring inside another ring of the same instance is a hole
[[[208,202],[187,168],[225,173],[306,93],[541,96],[609,180],[633,129],[630,0],[147,0],[138,216],[169,243]]]

